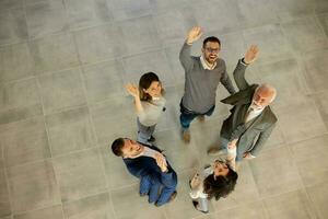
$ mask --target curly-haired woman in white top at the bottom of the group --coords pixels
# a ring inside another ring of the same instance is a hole
[[[234,191],[238,174],[235,172],[236,141],[227,146],[227,160],[215,160],[190,180],[190,197],[194,207],[201,212],[209,212],[208,199],[225,198]]]

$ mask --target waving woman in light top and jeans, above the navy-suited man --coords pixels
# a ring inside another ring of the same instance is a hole
[[[152,136],[162,113],[165,111],[166,100],[164,89],[159,77],[153,72],[144,73],[139,80],[139,88],[129,83],[127,91],[134,97],[138,124],[138,141],[151,145]]]

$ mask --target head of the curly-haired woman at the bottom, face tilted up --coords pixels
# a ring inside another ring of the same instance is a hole
[[[226,197],[234,191],[237,178],[238,174],[226,162],[216,160],[213,164],[213,174],[203,181],[204,193],[209,199],[214,197],[218,200]]]

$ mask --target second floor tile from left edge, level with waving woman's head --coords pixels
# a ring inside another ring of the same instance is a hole
[[[81,77],[80,69],[38,77],[45,114],[86,104]]]

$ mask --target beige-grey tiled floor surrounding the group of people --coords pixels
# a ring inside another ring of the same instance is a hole
[[[227,92],[219,87],[214,115],[194,122],[185,145],[178,51],[192,25],[221,38],[230,74],[259,45],[247,79],[279,92],[269,142],[207,216],[187,182],[210,162]],[[0,219],[327,219],[327,0],[0,0]],[[124,84],[145,71],[166,88],[155,137],[179,175],[176,200],[161,208],[108,150],[136,137]]]

